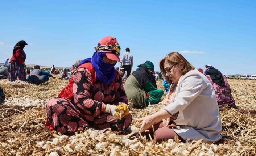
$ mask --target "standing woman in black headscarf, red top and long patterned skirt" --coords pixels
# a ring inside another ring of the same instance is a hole
[[[10,73],[8,76],[9,81],[26,81],[26,54],[24,52],[24,47],[28,45],[26,41],[20,40],[14,47],[12,51],[12,58],[11,58],[11,67]]]

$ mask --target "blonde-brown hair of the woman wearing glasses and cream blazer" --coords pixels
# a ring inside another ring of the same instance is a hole
[[[171,83],[172,81],[168,78],[168,76],[166,76],[164,69],[165,61],[168,61],[168,63],[172,64],[182,63],[184,65],[183,69],[181,70],[182,75],[185,75],[187,72],[195,69],[195,67],[191,63],[189,63],[181,54],[179,54],[178,52],[170,52],[159,63],[160,71],[168,83]]]

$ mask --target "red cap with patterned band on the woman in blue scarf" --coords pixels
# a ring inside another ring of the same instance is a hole
[[[105,52],[108,59],[121,62],[119,58],[121,48],[115,37],[102,38],[95,48],[97,52]]]

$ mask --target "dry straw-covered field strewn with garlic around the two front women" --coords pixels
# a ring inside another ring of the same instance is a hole
[[[99,134],[88,129],[73,136],[57,134],[45,127],[45,104],[56,97],[67,80],[50,79],[36,86],[20,81],[0,80],[8,100],[0,105],[0,155],[251,155],[256,154],[256,81],[228,80],[236,109],[223,109],[222,139],[218,143],[181,143],[178,139],[155,144],[139,134],[128,139],[127,132]],[[159,88],[161,83],[158,81]],[[162,98],[161,100],[164,100]],[[152,114],[163,107],[133,109],[133,119]],[[136,125],[135,121],[132,125]],[[135,128],[136,129],[136,128]],[[191,140],[190,140],[191,141]]]

